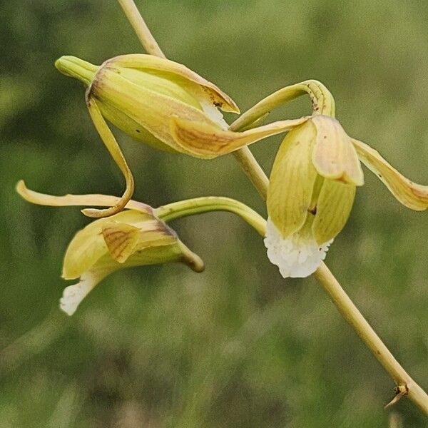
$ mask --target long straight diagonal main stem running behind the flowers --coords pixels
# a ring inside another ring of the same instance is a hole
[[[149,54],[164,56],[158,44],[156,44],[156,47],[153,47],[154,38],[144,23],[133,0],[118,1],[125,11],[134,30],[138,34],[138,38],[146,51],[148,51]],[[237,129],[235,129],[236,122],[235,126],[232,124],[230,128],[233,128],[233,131],[237,131]],[[263,199],[266,199],[269,180],[262,168],[260,168],[258,162],[255,160],[253,154],[250,152],[250,149],[247,147],[240,148],[237,151],[234,151],[233,154],[255,188],[258,190],[258,193],[260,193],[260,196],[262,196]],[[332,272],[330,272],[324,263],[322,263],[316,270],[315,277],[330,295],[332,302],[335,303],[340,313],[355,329],[357,335],[362,338],[367,347],[369,347],[377,360],[382,364],[384,369],[387,370],[392,379],[394,379],[394,382],[397,383],[398,387],[404,387],[409,399],[411,399],[412,402],[414,402],[414,404],[424,412],[424,414],[428,415],[428,395],[421,387],[419,387],[417,382],[414,382],[412,377],[410,377],[402,366],[399,365],[397,360],[394,359],[391,352],[389,352],[382,340],[380,340],[374,330],[372,330],[372,327],[370,327],[362,314],[357,310],[357,307],[352,303],[350,297],[347,296],[339,282],[337,282],[335,277],[332,275]]]

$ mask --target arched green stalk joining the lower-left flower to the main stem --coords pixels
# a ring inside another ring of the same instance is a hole
[[[239,215],[250,226],[253,226],[260,235],[265,236],[266,220],[247,205],[230,198],[205,196],[203,198],[180,200],[179,202],[168,203],[168,205],[156,208],[155,214],[163,221],[170,221],[175,220],[175,218],[209,213],[210,211],[228,211]]]

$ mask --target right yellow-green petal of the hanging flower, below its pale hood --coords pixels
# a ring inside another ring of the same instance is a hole
[[[345,226],[355,199],[355,185],[325,179],[318,196],[312,233],[318,244],[335,238]]]

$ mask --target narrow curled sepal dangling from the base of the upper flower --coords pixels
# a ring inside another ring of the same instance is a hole
[[[133,176],[131,170],[128,167],[128,164],[126,163],[125,158],[123,157],[121,148],[119,148],[118,146],[116,138],[114,138],[113,133],[111,132],[110,128],[108,128],[106,121],[101,115],[101,111],[98,108],[96,101],[93,98],[87,97],[86,104],[88,106],[89,114],[91,115],[93,124],[95,125],[96,130],[101,136],[101,140],[106,146],[108,152],[111,154],[113,161],[116,162],[116,165],[118,165],[121,172],[123,173],[123,176],[125,177],[126,190],[125,193],[123,193],[122,197],[113,207],[106,208],[103,210],[98,210],[96,208],[85,208],[84,210],[82,210],[82,213],[84,215],[87,215],[88,217],[93,218],[109,217],[110,215],[119,213],[121,210],[123,210],[129,200],[131,200],[131,196],[133,195],[134,189]]]

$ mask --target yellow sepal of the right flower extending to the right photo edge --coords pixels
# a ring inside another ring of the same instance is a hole
[[[428,208],[428,186],[413,183],[362,141],[352,140],[362,163],[376,174],[392,195],[407,208],[423,211]]]

